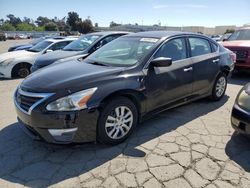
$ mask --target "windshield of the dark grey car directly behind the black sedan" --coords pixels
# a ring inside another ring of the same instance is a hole
[[[71,42],[63,48],[65,51],[83,51],[95,42],[101,35],[84,35],[81,38]]]

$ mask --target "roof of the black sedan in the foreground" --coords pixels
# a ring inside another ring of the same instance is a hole
[[[182,31],[146,31],[146,32],[138,32],[132,33],[123,37],[145,37],[145,38],[168,38],[176,35],[197,35],[204,37],[205,35],[199,33],[192,33],[192,32],[182,32]]]

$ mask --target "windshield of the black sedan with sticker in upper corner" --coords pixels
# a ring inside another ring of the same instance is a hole
[[[86,61],[108,66],[132,66],[140,62],[158,40],[156,38],[119,38],[91,54]]]

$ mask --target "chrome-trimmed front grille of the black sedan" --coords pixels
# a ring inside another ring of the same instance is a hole
[[[50,93],[31,93],[17,89],[15,93],[15,104],[24,113],[30,114],[32,109],[46,100]]]

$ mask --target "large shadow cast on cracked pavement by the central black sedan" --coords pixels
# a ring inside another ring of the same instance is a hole
[[[202,99],[191,104],[162,112],[139,124],[134,133],[122,144],[106,146],[87,143],[82,145],[53,145],[33,141],[18,127],[18,123],[0,131],[0,177],[6,182],[30,187],[47,187],[69,178],[84,175],[90,170],[102,176],[98,168],[108,165],[114,158],[146,155],[149,141],[170,133],[228,101],[211,102]]]

